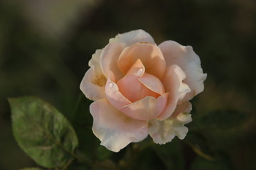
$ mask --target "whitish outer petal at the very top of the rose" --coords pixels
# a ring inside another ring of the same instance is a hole
[[[115,38],[111,38],[110,42],[122,42],[127,47],[137,42],[154,43],[154,39],[144,30],[132,30],[127,33],[118,34]]]

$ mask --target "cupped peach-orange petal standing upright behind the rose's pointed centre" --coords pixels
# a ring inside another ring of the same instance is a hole
[[[146,73],[152,74],[161,79],[166,69],[164,56],[155,44],[141,42],[124,48],[117,61],[122,73],[127,74],[129,68],[138,59],[142,60]]]

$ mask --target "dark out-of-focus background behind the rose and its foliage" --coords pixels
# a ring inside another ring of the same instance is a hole
[[[95,50],[139,28],[156,44],[193,46],[208,78],[192,100],[186,139],[145,149],[136,169],[256,169],[256,1],[1,0],[1,170],[37,166],[14,140],[8,97],[45,99],[85,136],[80,145],[98,145],[91,101],[86,120],[72,120],[80,81]]]

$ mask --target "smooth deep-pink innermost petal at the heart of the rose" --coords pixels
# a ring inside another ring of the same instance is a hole
[[[137,75],[129,74],[117,81],[117,86],[121,94],[129,101],[139,101],[146,96],[158,98],[160,95],[146,88],[138,79]]]

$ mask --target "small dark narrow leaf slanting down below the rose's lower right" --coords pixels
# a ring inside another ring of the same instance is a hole
[[[210,144],[203,135],[196,132],[189,132],[184,142],[186,142],[186,144],[188,144],[196,154],[204,159],[208,159],[210,161],[215,159],[213,157],[213,152],[210,149]]]

